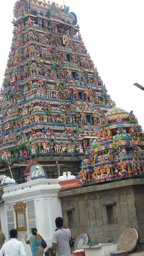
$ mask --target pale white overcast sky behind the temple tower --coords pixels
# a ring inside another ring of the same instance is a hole
[[[47,0],[46,0],[47,2]],[[52,2],[52,1],[51,1]],[[133,113],[144,129],[144,1],[64,0],[77,15],[88,52],[116,106]],[[56,3],[63,4],[63,0]],[[15,0],[1,1],[0,84],[12,41]]]

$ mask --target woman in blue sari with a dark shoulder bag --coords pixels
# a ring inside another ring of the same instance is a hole
[[[44,248],[42,247],[42,239],[39,234],[37,234],[37,229],[32,228],[32,236],[27,240],[27,235],[25,235],[26,244],[30,244],[33,256],[43,256]]]

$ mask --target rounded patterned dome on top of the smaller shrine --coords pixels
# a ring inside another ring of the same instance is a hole
[[[108,121],[114,122],[127,120],[129,113],[121,108],[113,107],[112,109],[108,110],[105,116],[108,117]]]

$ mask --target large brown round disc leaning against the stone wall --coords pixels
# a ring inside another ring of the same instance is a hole
[[[132,252],[138,241],[138,233],[134,228],[127,228],[119,237],[118,249]]]

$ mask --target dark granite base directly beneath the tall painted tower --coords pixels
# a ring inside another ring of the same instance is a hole
[[[63,171],[71,171],[72,175],[77,175],[80,171],[81,162],[85,158],[85,154],[36,154],[31,157],[27,157],[26,159],[18,159],[17,161],[10,162],[10,167],[12,170],[13,178],[15,179],[16,183],[23,183],[25,182],[25,170],[26,166],[14,166],[13,164],[29,164],[31,160],[37,162],[39,164],[65,164],[65,166],[60,167],[60,175],[62,175]],[[5,172],[2,173],[6,176],[10,176],[10,171],[8,166],[2,166],[1,170],[5,169]],[[46,178],[57,178],[57,170],[55,167],[43,167],[44,171],[46,172]]]

